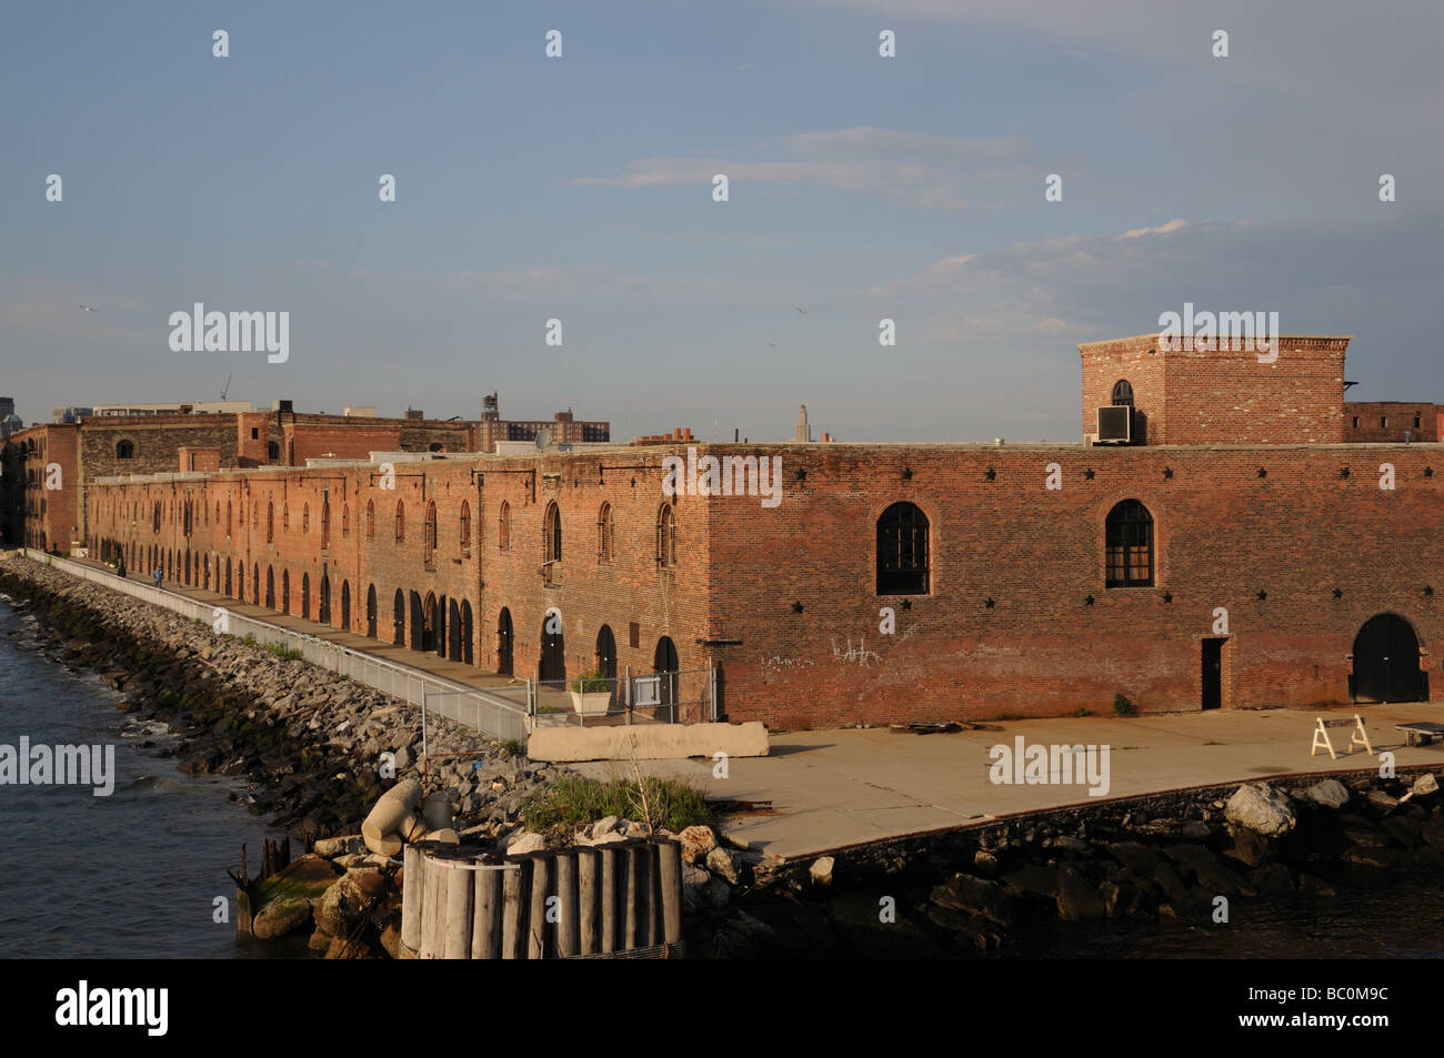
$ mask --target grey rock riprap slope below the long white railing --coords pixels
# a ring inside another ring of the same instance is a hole
[[[0,563],[0,592],[36,618],[20,648],[98,673],[120,712],[179,738],[142,748],[183,772],[247,778],[232,797],[308,844],[360,827],[390,785],[384,752],[397,777],[417,774],[420,713],[381,691],[25,559]],[[443,717],[429,717],[427,746],[465,753],[433,762],[426,785],[452,794],[458,830],[478,839],[514,831],[559,771]]]

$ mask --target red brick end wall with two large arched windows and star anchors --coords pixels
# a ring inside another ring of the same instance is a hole
[[[1199,709],[1216,606],[1230,615],[1225,703],[1308,704],[1346,699],[1344,657],[1369,616],[1404,615],[1425,647],[1444,631],[1422,593],[1444,574],[1440,484],[1424,476],[1444,472],[1438,452],[783,452],[780,508],[712,501],[713,635],[742,641],[716,650],[732,719],[1108,713],[1118,693],[1145,712]],[[1386,460],[1392,492],[1378,488]],[[1048,463],[1061,491],[1044,488]],[[1155,587],[1105,586],[1103,523],[1126,498],[1155,518]],[[875,593],[875,521],[898,499],[933,528],[931,593],[911,609]],[[895,609],[895,635],[878,631],[882,606]]]

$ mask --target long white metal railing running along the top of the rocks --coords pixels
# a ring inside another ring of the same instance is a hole
[[[308,632],[297,632],[290,628],[273,625],[269,621],[237,613],[227,606],[211,606],[209,603],[192,599],[178,592],[146,585],[137,580],[117,577],[114,573],[71,561],[43,551],[25,548],[27,559],[55,566],[81,580],[90,580],[120,592],[131,598],[147,602],[152,606],[179,613],[192,621],[198,621],[217,635],[234,635],[241,639],[251,639],[260,647],[277,647],[297,651],[305,661],[319,668],[326,668],[339,676],[349,677],[367,687],[401,699],[403,701],[420,707],[427,696],[433,703],[430,707],[456,723],[485,732],[497,739],[524,740],[530,730],[530,717],[524,706],[516,706],[505,699],[488,694],[487,691],[466,687],[453,680],[432,676],[420,668],[401,665],[374,654],[351,650],[338,642],[329,642]]]

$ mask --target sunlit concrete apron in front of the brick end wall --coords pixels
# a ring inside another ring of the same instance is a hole
[[[1395,723],[1444,722],[1444,703],[1362,706],[1359,714],[1375,751],[1395,753],[1396,768],[1444,768],[1440,743],[1406,749]],[[1327,713],[1352,717],[1353,709]],[[1060,717],[992,725],[996,730],[954,735],[895,735],[888,730],[790,732],[773,736],[768,758],[734,758],[726,779],[710,761],[653,762],[647,771],[702,785],[710,798],[771,801],[771,814],[742,814],[728,833],[781,859],[816,856],[891,837],[986,823],[999,816],[1135,797],[1188,787],[1249,782],[1301,772],[1378,768],[1362,749],[1337,762],[1327,752],[1310,759],[1314,712],[1209,712],[1158,716]],[[1330,732],[1336,751],[1350,729]],[[1087,785],[993,785],[993,745],[1109,746],[1109,790],[1090,797]],[[631,765],[573,765],[595,778]]]

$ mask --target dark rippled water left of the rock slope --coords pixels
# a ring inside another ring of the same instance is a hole
[[[185,775],[137,743],[163,725],[116,712],[123,696],[39,657],[35,621],[0,596],[0,743],[114,745],[116,788],[0,785],[0,956],[253,958],[302,947],[235,938],[241,843],[251,870],[264,823],[227,800],[244,779]],[[10,635],[19,632],[19,635]],[[230,921],[212,919],[230,901]]]

